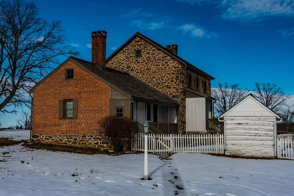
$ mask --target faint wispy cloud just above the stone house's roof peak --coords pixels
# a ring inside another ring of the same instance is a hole
[[[159,22],[146,22],[145,20],[136,20],[136,21],[131,21],[130,26],[136,26],[144,30],[156,30],[156,29],[167,27],[169,22],[170,22],[169,20],[163,20]]]

